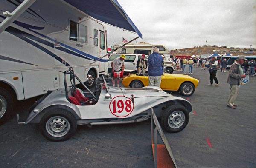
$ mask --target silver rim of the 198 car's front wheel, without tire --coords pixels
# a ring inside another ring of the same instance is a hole
[[[168,125],[171,128],[180,128],[185,122],[185,114],[182,111],[174,111],[169,115]]]

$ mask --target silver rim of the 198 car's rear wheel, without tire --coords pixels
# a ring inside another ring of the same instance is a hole
[[[46,122],[46,131],[52,137],[62,137],[70,130],[70,123],[68,120],[61,116],[51,117]]]

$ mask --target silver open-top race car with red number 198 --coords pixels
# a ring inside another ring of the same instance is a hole
[[[80,86],[76,85],[77,81]],[[181,97],[172,96],[156,86],[119,88],[108,86],[104,77],[103,81],[91,91],[73,70],[65,71],[65,87],[49,91],[41,97],[23,123],[39,123],[44,137],[51,141],[63,141],[75,134],[77,125],[148,120],[151,107],[168,132],[179,132],[189,122],[192,105]]]

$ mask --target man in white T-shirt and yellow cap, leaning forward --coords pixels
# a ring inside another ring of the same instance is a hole
[[[114,78],[114,72],[124,72],[125,71],[125,55],[122,54],[119,58],[115,58],[111,62],[112,67],[112,83],[113,86],[116,84],[116,79]],[[120,80],[117,79],[117,87],[119,87]]]

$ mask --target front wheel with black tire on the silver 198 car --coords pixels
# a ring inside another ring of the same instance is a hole
[[[171,133],[182,131],[188,123],[189,111],[181,105],[169,106],[161,117],[161,124]]]

